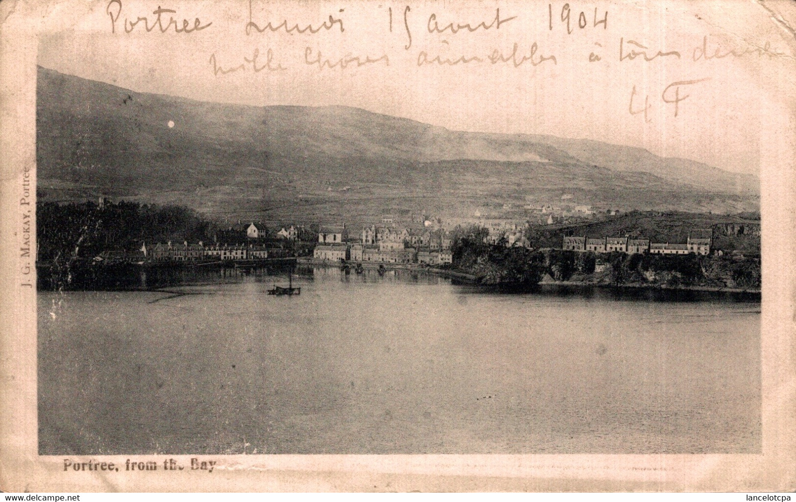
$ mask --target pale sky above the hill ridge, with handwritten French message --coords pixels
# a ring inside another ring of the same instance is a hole
[[[759,174],[760,130],[767,114],[784,113],[778,90],[794,79],[793,43],[757,4],[726,5],[572,3],[567,25],[564,2],[115,0],[53,7],[37,61],[140,92],[361,107],[452,130],[641,146]],[[158,6],[176,10],[161,14],[166,33],[154,25]],[[170,16],[180,27],[184,18],[207,27],[175,33]],[[144,21],[125,24],[144,17],[149,32]],[[246,33],[248,21],[276,29]],[[292,25],[321,28],[289,32]],[[705,57],[716,50],[739,55]],[[258,68],[270,53],[271,68],[284,69],[252,71],[255,53]]]

